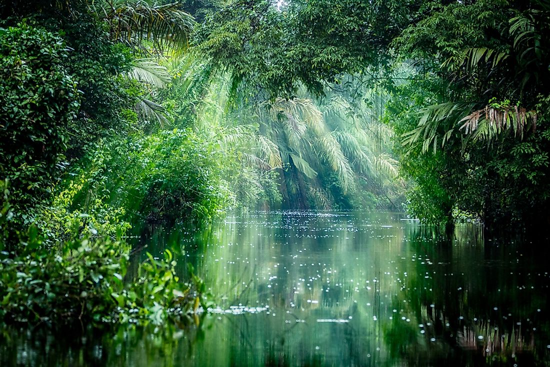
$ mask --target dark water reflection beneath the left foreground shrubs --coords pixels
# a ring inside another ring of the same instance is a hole
[[[188,320],[189,321],[189,320]],[[9,327],[0,332],[1,366],[171,366],[193,354],[203,331],[194,322]]]

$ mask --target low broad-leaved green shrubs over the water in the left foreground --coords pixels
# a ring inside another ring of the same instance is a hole
[[[100,229],[101,231],[101,229]],[[180,282],[176,262],[130,265],[128,245],[107,235],[73,238],[52,250],[36,227],[21,242],[18,254],[0,253],[0,320],[139,321],[160,324],[169,314],[196,310],[204,289]]]

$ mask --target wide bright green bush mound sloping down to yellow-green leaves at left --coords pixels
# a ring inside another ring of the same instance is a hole
[[[50,238],[73,223],[109,235],[129,223],[208,221],[232,202],[221,151],[191,130],[162,130],[101,140],[54,188],[36,219]]]

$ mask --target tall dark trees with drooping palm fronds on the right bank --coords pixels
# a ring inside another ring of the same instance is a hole
[[[491,230],[548,220],[548,16],[543,1],[432,4],[397,40],[422,66],[414,75],[433,80],[415,83],[429,98],[404,107],[423,108],[417,121],[397,123],[425,212],[475,212]]]

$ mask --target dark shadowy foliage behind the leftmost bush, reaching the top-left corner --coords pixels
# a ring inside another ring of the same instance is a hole
[[[3,23],[22,19],[56,34],[63,40],[65,57],[56,61],[78,84],[80,107],[68,130],[67,157],[80,158],[86,145],[100,136],[119,131],[124,124],[121,109],[135,100],[121,77],[130,70],[128,47],[113,41],[103,14],[96,14],[86,0],[64,2],[29,1],[6,6]],[[10,9],[12,8],[12,9]],[[10,14],[11,13],[11,14]]]

